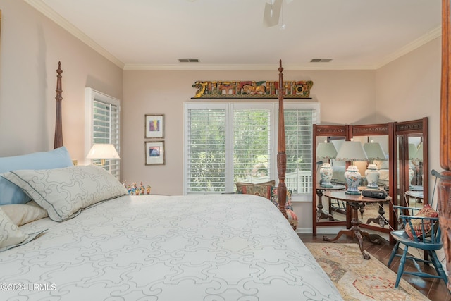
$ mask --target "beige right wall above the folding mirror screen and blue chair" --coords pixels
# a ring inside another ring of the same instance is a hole
[[[441,38],[376,71],[378,122],[428,118],[429,198],[440,168]],[[433,202],[436,202],[437,194]],[[429,201],[431,202],[431,201]]]

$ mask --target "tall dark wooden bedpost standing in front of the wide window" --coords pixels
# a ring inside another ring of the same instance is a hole
[[[279,183],[277,186],[277,197],[279,200],[279,209],[282,214],[287,217],[285,211],[285,202],[287,200],[287,185],[285,185],[285,173],[287,171],[287,154],[285,153],[285,118],[283,117],[283,67],[282,60],[279,62],[279,123],[278,123],[278,140],[277,140],[277,171]]]

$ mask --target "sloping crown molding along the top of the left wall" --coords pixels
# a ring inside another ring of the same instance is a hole
[[[60,14],[56,13],[53,9],[51,9],[47,4],[44,4],[44,2],[39,0],[24,0],[27,4],[30,4],[33,8],[35,8],[37,11],[42,13],[44,16],[49,18],[50,20],[54,21],[54,23],[58,24],[59,26],[63,27],[63,29],[70,32],[70,34],[74,35],[76,38],[80,39],[80,41],[87,44],[87,46],[91,47],[95,51],[97,51],[101,56],[104,56],[106,59],[114,63],[119,68],[124,68],[124,63],[119,61],[116,56],[113,56],[113,54],[109,53],[109,51],[106,51],[103,47],[101,47],[99,44],[94,42],[93,39],[85,35],[81,30],[79,30],[77,27],[75,27],[72,23],[68,22],[65,18],[63,18]]]

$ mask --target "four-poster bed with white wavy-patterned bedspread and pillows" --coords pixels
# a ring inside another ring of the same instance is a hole
[[[56,91],[57,132],[61,73]],[[0,158],[1,195],[6,183],[20,201],[0,206],[0,300],[342,300],[284,216],[283,170],[277,208],[255,195],[130,196],[69,161],[59,133],[54,150]]]

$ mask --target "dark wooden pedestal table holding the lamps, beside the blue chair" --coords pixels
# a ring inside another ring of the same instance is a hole
[[[352,208],[352,221],[351,221],[352,226],[349,229],[340,230],[340,232],[338,232],[338,234],[337,234],[337,236],[335,236],[335,238],[329,239],[327,236],[323,236],[323,240],[335,242],[343,234],[346,234],[351,237],[355,237],[355,238],[357,238],[357,241],[359,242],[360,252],[362,252],[364,259],[370,259],[369,254],[366,253],[364,250],[363,238],[365,237],[370,242],[373,242],[373,243],[378,243],[380,241],[371,239],[369,233],[366,231],[362,231],[362,229],[359,227],[359,224],[360,224],[359,209],[363,208],[365,206],[365,204],[367,204],[367,203],[390,202],[392,200],[392,198],[390,196],[388,196],[388,197],[385,197],[385,199],[376,199],[373,197],[364,197],[362,195],[348,195],[345,191],[327,191],[324,193],[324,195],[326,197],[345,201],[347,206],[350,206]]]

